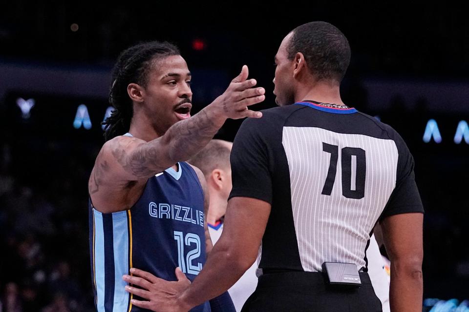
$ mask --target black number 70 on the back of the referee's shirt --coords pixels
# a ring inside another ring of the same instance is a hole
[[[322,195],[331,195],[336,181],[339,146],[322,142],[322,151],[331,154],[329,170],[322,188]],[[341,149],[342,195],[347,198],[361,199],[365,196],[366,156],[358,147]]]

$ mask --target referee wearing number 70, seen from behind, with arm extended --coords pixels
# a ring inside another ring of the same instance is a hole
[[[227,290],[257,257],[258,285],[243,311],[382,311],[365,256],[380,222],[391,311],[422,311],[424,210],[413,158],[390,126],[342,102],[349,60],[347,39],[326,22],[283,39],[280,107],[236,135],[224,231],[206,266],[190,287],[136,270],[143,279],[129,281],[149,290],[129,289],[149,300],[139,304],[187,311]]]

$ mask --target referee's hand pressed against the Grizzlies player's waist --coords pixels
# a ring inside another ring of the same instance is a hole
[[[133,285],[126,286],[126,291],[147,300],[132,299],[130,300],[132,305],[155,312],[187,312],[191,309],[178,300],[178,295],[191,285],[191,281],[181,269],[176,268],[177,281],[173,282],[135,268],[130,269],[130,273],[132,275],[122,277]]]

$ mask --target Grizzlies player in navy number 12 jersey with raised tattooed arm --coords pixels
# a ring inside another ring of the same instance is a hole
[[[183,160],[227,118],[261,117],[247,107],[262,101],[265,91],[247,77],[243,66],[225,93],[191,117],[191,73],[174,45],[141,43],[120,55],[109,94],[115,110],[88,184],[98,312],[143,311],[124,291],[121,276],[132,266],[168,280],[193,280],[204,266],[212,247],[205,179]],[[192,311],[210,307],[200,302]]]

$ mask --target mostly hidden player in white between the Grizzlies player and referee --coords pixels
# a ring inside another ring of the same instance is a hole
[[[228,196],[232,189],[230,153],[233,143],[223,140],[212,140],[188,162],[199,168],[207,180],[210,197],[207,225],[213,244],[223,232],[224,216],[228,204]],[[257,285],[257,265],[254,263],[233,285],[230,293],[237,312],[254,292]]]

